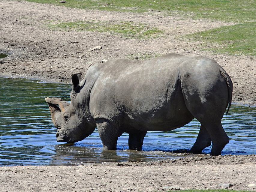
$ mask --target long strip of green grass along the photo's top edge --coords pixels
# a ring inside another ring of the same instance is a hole
[[[37,3],[48,3],[80,9],[116,10],[144,12],[171,10],[193,12],[195,18],[217,19],[224,21],[254,21],[256,4],[254,0],[26,0]],[[56,2],[57,1],[57,2]]]

